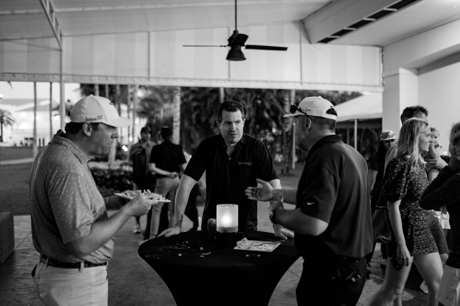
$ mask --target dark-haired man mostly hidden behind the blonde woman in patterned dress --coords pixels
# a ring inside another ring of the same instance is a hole
[[[401,124],[406,122],[410,118],[419,118],[425,121],[428,121],[428,110],[421,106],[408,106],[403,110],[401,114]],[[390,149],[386,152],[385,156],[385,169],[388,163],[396,156],[396,144],[392,145]],[[441,158],[434,158],[434,159],[427,159],[429,164],[436,164],[436,160],[439,160],[440,163],[443,163]],[[445,163],[445,162],[444,162]],[[447,163],[445,163],[447,165]],[[439,167],[438,167],[439,168]],[[431,211],[428,215],[428,225],[430,226],[431,234],[433,235],[437,249],[439,250],[439,255],[441,256],[441,261],[443,265],[446,263],[447,258],[449,257],[449,248],[447,246],[446,236],[443,231],[443,227],[439,223],[439,220],[435,217],[435,212]],[[426,287],[425,282],[420,284],[420,289],[425,293],[428,294],[428,288]],[[402,305],[402,296],[398,297],[397,303],[395,305]]]

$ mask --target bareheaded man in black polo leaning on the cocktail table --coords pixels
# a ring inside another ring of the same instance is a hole
[[[207,230],[207,221],[216,217],[218,204],[238,205],[238,229],[257,230],[257,201],[244,194],[247,186],[257,186],[262,178],[280,188],[270,153],[257,138],[243,134],[244,109],[236,101],[224,101],[217,111],[221,134],[201,142],[190,158],[179,184],[175,200],[175,222],[161,235],[179,234],[190,190],[206,170],[206,205],[201,229]],[[288,233],[275,226],[275,234],[287,239]],[[291,234],[292,235],[292,234]]]

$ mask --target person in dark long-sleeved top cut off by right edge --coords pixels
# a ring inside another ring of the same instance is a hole
[[[425,209],[447,206],[449,211],[452,246],[436,298],[440,305],[457,306],[460,304],[460,122],[450,130],[449,152],[449,164],[425,189],[420,206]]]

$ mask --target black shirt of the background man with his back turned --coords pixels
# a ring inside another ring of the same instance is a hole
[[[169,140],[155,145],[150,153],[150,163],[155,167],[169,172],[180,172],[180,165],[186,163],[184,152],[180,145],[173,144]],[[156,174],[157,178],[165,178],[166,175]]]

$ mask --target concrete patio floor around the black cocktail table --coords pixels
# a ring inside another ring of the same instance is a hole
[[[290,205],[286,205],[287,208]],[[268,204],[259,202],[259,230],[273,232],[267,213]],[[292,207],[292,206],[291,206]],[[202,207],[198,207],[201,215]],[[145,217],[141,218],[145,224]],[[184,218],[183,230],[191,228],[192,223]],[[15,216],[15,250],[0,265],[0,305],[41,306],[35,295],[30,272],[38,260],[38,253],[32,245],[30,216]],[[133,234],[134,218],[130,219],[115,235],[115,254],[109,262],[109,306],[175,306],[169,289],[155,271],[138,256],[140,234]],[[359,306],[368,305],[370,298],[380,288],[383,270],[380,267],[380,245],[377,245],[370,268],[370,276],[364,287]],[[295,288],[302,272],[302,259],[296,261],[285,273],[270,300],[270,306],[297,305]],[[424,295],[412,278],[410,286],[403,295],[404,306],[424,305]]]

